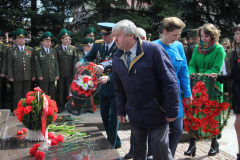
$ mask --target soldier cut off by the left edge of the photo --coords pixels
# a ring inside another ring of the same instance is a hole
[[[2,31],[0,31],[0,39],[3,39],[4,37],[4,33]],[[7,54],[6,54],[6,50],[4,47],[3,42],[0,42],[0,109],[2,108],[2,103],[3,103],[3,89],[2,89],[2,81],[3,78],[6,76],[6,62],[7,62]]]

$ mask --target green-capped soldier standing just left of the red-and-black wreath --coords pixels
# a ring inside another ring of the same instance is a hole
[[[59,66],[59,79],[57,82],[57,102],[58,112],[61,113],[64,109],[67,97],[64,92],[69,96],[69,87],[72,83],[74,73],[74,64],[76,59],[76,48],[69,45],[69,35],[66,29],[62,29],[58,35],[58,39],[62,44],[55,47],[57,50],[58,66]]]

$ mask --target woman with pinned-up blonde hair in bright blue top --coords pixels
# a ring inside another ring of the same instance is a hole
[[[173,157],[183,131],[183,105],[181,88],[184,91],[184,97],[187,100],[186,103],[190,104],[192,102],[187,60],[182,43],[177,41],[184,27],[185,23],[177,17],[165,18],[162,21],[163,37],[153,41],[154,43],[162,45],[164,50],[167,52],[178,78],[179,113],[175,121],[169,122],[169,148]]]

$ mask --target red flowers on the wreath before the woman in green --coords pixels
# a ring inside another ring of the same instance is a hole
[[[183,99],[183,110],[185,118],[183,120],[184,129],[195,138],[200,138],[203,132],[209,136],[216,136],[220,133],[220,123],[215,119],[222,111],[229,109],[230,104],[226,102],[219,103],[217,100],[210,100],[207,88],[204,82],[198,81],[192,87],[193,101],[186,105],[186,99]],[[196,137],[199,136],[199,137]]]

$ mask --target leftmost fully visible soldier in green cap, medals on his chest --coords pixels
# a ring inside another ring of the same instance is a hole
[[[26,31],[18,29],[14,32],[14,38],[18,46],[9,49],[8,54],[8,78],[13,82],[15,110],[18,101],[26,97],[31,90],[31,81],[35,81],[34,50],[25,46]]]

